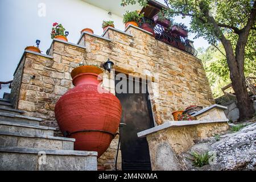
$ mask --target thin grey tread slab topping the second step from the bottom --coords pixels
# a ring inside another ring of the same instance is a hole
[[[9,132],[9,131],[0,131],[0,135],[7,135],[7,136],[15,136],[15,137],[26,137],[26,138],[45,138],[45,139],[54,139],[54,140],[64,140],[69,142],[75,142],[75,138],[64,138],[64,137],[53,137],[47,135],[31,135],[31,134],[24,134],[24,133],[17,133],[17,132]]]

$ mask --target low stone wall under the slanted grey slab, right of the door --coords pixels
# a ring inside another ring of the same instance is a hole
[[[185,121],[184,121],[185,122]],[[226,122],[201,123],[167,129],[148,134],[147,141],[150,149],[151,166],[153,170],[185,169],[180,154],[202,140],[220,134],[229,129]]]

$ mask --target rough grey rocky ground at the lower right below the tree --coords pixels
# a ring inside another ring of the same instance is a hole
[[[256,120],[256,119],[255,119]],[[239,131],[228,131],[220,137],[198,141],[182,155],[188,170],[256,170],[256,122],[245,122],[247,125]],[[231,126],[232,127],[232,126]],[[210,164],[195,167],[190,153],[197,151],[211,152],[216,157],[210,158]]]

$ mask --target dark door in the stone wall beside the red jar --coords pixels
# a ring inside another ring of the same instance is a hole
[[[154,127],[151,104],[148,100],[147,89],[144,90],[146,84],[142,84],[141,80],[139,82],[134,81],[134,78],[130,80],[132,81],[129,82],[129,79],[118,76],[115,80],[116,86],[120,86],[120,81],[126,81],[127,83],[127,88],[123,89],[126,90],[126,93],[118,93],[116,88],[116,96],[122,105],[121,123],[126,124],[120,129],[122,169],[151,170],[147,140],[146,138],[138,138],[137,135],[140,131]],[[132,93],[130,93],[131,90],[133,90]],[[136,93],[134,93],[135,90]]]

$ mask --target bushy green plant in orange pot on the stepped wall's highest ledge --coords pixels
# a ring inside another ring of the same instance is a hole
[[[138,27],[139,20],[143,18],[144,14],[139,13],[138,11],[126,11],[123,15],[123,23],[125,23],[125,28],[132,24],[135,27]]]

